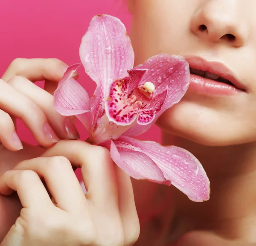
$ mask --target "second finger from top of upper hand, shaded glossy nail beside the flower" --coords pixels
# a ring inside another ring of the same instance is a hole
[[[71,118],[61,116],[53,104],[53,96],[32,84],[28,79],[16,76],[8,81],[15,90],[29,98],[43,110],[48,122],[61,139],[78,139],[79,133]]]

